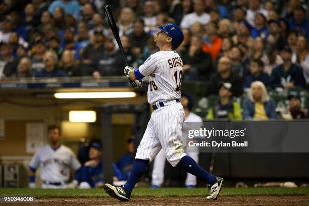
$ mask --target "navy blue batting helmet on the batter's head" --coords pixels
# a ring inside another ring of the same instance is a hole
[[[164,33],[172,37],[173,49],[176,49],[183,41],[183,33],[181,29],[176,24],[167,24],[165,26],[158,25]]]

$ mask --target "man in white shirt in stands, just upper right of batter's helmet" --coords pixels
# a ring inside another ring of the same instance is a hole
[[[206,25],[210,21],[210,15],[205,13],[205,6],[203,1],[196,0],[193,5],[194,12],[186,14],[181,23],[180,27],[183,29],[188,29],[194,22],[199,22],[202,25]]]

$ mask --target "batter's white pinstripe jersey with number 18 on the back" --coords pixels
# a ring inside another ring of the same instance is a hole
[[[148,102],[180,98],[182,60],[174,50],[164,50],[151,55],[138,68],[143,76],[149,75]]]

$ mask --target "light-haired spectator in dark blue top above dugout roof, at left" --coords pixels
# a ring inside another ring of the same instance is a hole
[[[46,52],[43,58],[44,68],[35,72],[35,77],[65,77],[66,73],[57,68],[58,56],[54,52]]]

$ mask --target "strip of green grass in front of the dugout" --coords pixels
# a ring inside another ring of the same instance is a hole
[[[136,188],[133,197],[177,197],[205,196],[206,188]],[[0,188],[0,196],[34,196],[34,197],[108,197],[103,189],[29,189]],[[220,196],[268,196],[268,195],[309,195],[309,188],[223,188]]]

